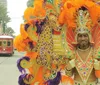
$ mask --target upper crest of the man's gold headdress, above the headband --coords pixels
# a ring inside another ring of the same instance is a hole
[[[89,30],[92,28],[92,20],[90,18],[89,11],[86,10],[85,7],[81,7],[81,9],[78,10],[76,15],[77,28],[81,29],[81,32],[85,31],[86,29]]]

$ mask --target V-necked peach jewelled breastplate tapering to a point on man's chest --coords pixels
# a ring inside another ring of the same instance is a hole
[[[93,69],[92,49],[91,49],[89,55],[87,56],[87,59],[85,62],[78,55],[78,52],[76,52],[75,64],[76,64],[76,69],[77,69],[83,83],[86,84],[88,81],[88,78],[91,74],[91,71]]]

